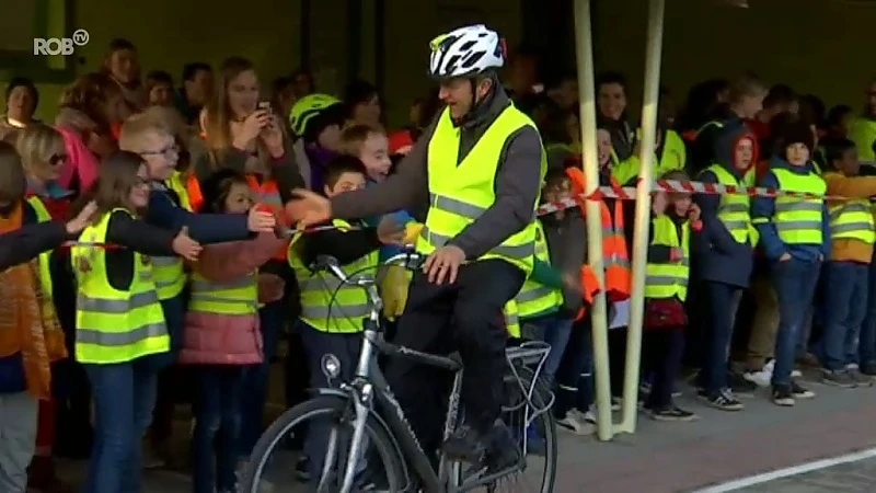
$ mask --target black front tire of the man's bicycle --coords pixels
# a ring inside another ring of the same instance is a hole
[[[319,395],[284,412],[267,427],[255,444],[253,452],[250,456],[250,462],[246,466],[240,491],[258,493],[258,480],[267,463],[267,459],[290,429],[321,414],[341,415],[347,412],[350,405],[349,400],[350,398],[344,395]],[[399,456],[390,432],[373,415],[368,416],[365,424],[365,432],[368,437],[369,447],[373,447],[383,461],[389,491],[404,491],[407,478],[405,478],[404,468],[402,466],[403,459]]]

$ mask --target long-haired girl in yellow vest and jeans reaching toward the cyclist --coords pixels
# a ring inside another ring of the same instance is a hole
[[[95,410],[85,490],[139,491],[140,440],[152,421],[155,362],[170,351],[149,255],[194,260],[200,245],[185,228],[170,231],[139,219],[149,185],[146,163],[135,153],[104,160],[94,200],[99,215],[70,252],[78,282],[74,353],[91,381]]]

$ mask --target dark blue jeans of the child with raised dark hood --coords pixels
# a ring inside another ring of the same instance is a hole
[[[706,355],[700,385],[710,394],[727,387],[727,357],[741,288],[726,283],[704,282],[708,300],[710,328],[706,329]]]

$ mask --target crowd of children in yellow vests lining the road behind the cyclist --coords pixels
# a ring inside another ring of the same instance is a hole
[[[365,294],[309,266],[332,255],[348,272],[373,267],[419,231],[415,218],[425,209],[335,220],[334,229],[290,243],[283,210],[296,187],[332,197],[384,180],[433,119],[435,101],[418,103],[410,128],[388,134],[368,84],[342,101],[312,87],[287,94],[287,83],[278,88],[284,98],[267,103],[253,65],[233,57],[215,89],[209,66],[188,67],[184,101],[174,101],[166,73],[150,73],[141,88],[128,73],[131,60],[132,45],[113,44],[106,70],[65,92],[55,126],[33,119],[33,83],[15,79],[5,93],[2,491],[24,491],[28,467],[31,486],[64,491],[53,446],[90,457],[85,491],[139,490],[140,470],[152,462],[145,450],[162,451],[181,386],[192,394],[193,491],[235,491],[234,471],[262,431],[280,337],[288,332],[292,341],[290,404],[303,389],[332,383],[321,370],[325,354],[339,358],[346,378],[355,366]],[[584,190],[575,105],[558,89],[565,82],[531,108],[549,158],[545,203]],[[858,162],[862,140],[873,154],[876,104],[853,124],[831,116],[819,134],[821,121],[784,87],[768,95],[745,76],[715,88],[694,131],[661,121],[656,174],[781,192],[654,194],[642,405],[660,421],[696,417],[676,403],[684,364],[699,368],[699,397],[725,411],[742,410],[737,395],[757,386],[770,386],[780,405],[815,397],[797,381],[802,358],[815,357],[821,380],[839,387],[871,386],[876,375],[876,177],[863,176]],[[143,89],[148,98],[138,96]],[[597,89],[598,179],[616,187],[637,175],[639,133],[626,119],[623,78],[606,74]],[[595,421],[587,309],[597,290],[612,319],[625,309],[631,211],[632,202],[600,202],[601,286],[587,262],[584,208],[539,216],[532,274],[506,313],[512,335],[551,345],[543,376],[557,394],[553,412],[578,435]],[[402,314],[410,274],[394,270],[383,279],[391,321]],[[623,328],[610,333],[614,395],[624,336]],[[320,466],[309,461],[319,457],[319,437],[311,431],[300,444],[304,479]]]

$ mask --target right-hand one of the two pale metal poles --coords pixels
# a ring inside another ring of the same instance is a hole
[[[636,431],[638,367],[642,354],[642,322],[645,305],[645,264],[650,229],[650,188],[654,182],[654,144],[657,138],[657,100],[660,88],[660,56],[664,38],[665,0],[648,3],[648,44],[645,51],[645,94],[642,105],[642,141],[636,185],[635,234],[633,237],[633,289],[630,294],[630,325],[626,339],[626,370],[623,382],[623,417],[619,429]]]

